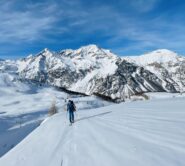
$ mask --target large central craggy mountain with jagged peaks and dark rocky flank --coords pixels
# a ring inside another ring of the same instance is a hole
[[[144,92],[176,92],[168,79],[146,70],[109,50],[88,45],[58,53],[44,49],[16,62],[21,80],[49,84],[66,90],[124,101]]]

